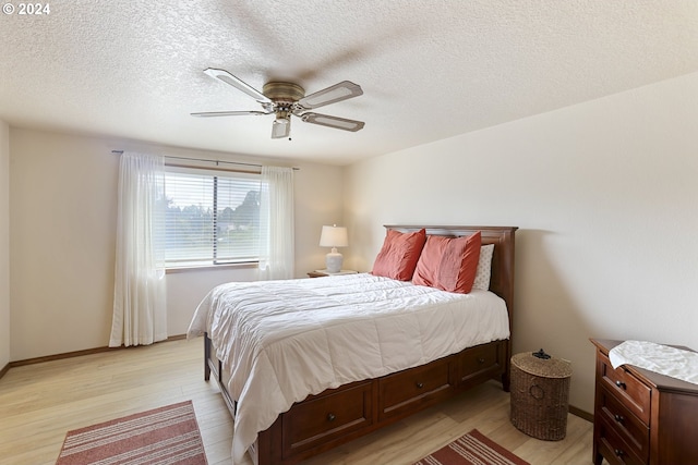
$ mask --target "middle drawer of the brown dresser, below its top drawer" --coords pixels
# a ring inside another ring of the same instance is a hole
[[[650,430],[637,418],[615,393],[609,392],[605,387],[599,389],[597,400],[600,414],[609,425],[625,440],[635,453],[647,461],[650,448]]]

